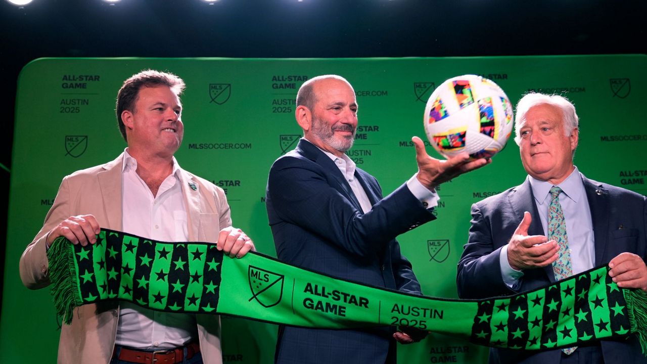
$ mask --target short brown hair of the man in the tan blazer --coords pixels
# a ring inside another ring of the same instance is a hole
[[[175,76],[175,74],[146,69],[140,73],[133,74],[133,76],[124,81],[124,85],[119,89],[119,93],[117,94],[116,115],[119,131],[122,133],[124,141],[127,142],[128,139],[126,137],[126,126],[124,125],[124,120],[121,119],[122,113],[124,110],[129,110],[133,113],[135,112],[135,103],[139,96],[139,90],[142,87],[156,86],[168,86],[177,96],[179,96],[182,91],[184,91],[184,87],[186,87],[182,78]]]

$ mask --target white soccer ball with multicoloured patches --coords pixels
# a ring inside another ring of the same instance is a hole
[[[512,132],[510,99],[494,82],[465,74],[435,89],[424,109],[424,130],[446,158],[467,152],[472,159],[501,151]]]

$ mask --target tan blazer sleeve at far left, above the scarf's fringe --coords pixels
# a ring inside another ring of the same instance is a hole
[[[50,284],[45,240],[56,225],[71,216],[70,205],[69,183],[65,177],[58,188],[52,208],[45,216],[43,227],[20,257],[20,279],[30,290],[38,290]]]

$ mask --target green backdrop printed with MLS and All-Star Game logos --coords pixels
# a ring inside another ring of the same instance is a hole
[[[580,171],[647,191],[644,55],[39,59],[25,66],[17,89],[0,362],[56,361],[59,333],[49,290],[27,290],[18,260],[40,229],[63,176],[124,150],[116,92],[127,77],[147,68],[171,71],[186,82],[184,142],[176,154],[180,165],[225,188],[234,225],[272,256],[267,173],[302,134],[294,120],[294,98],[304,80],[319,74],[340,74],[355,87],[359,127],[348,154],[377,177],[385,194],[416,171],[410,139],[426,139],[422,114],[430,93],[447,78],[468,73],[497,82],[514,104],[529,91],[565,95],[581,120],[575,158]],[[442,185],[438,219],[400,236],[426,295],[456,297],[456,264],[467,239],[470,205],[523,181],[518,154],[510,141],[492,165]],[[275,341],[272,324],[223,317],[225,362],[272,363]],[[487,348],[435,334],[399,348],[402,363],[481,363],[486,355]]]

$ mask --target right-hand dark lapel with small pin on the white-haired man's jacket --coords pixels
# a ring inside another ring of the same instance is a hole
[[[580,174],[581,175],[581,174]],[[593,225],[593,240],[595,244],[595,266],[602,264],[606,243],[609,236],[609,191],[602,185],[594,184],[593,181],[582,175],[586,199],[589,201],[591,211],[591,225]]]

